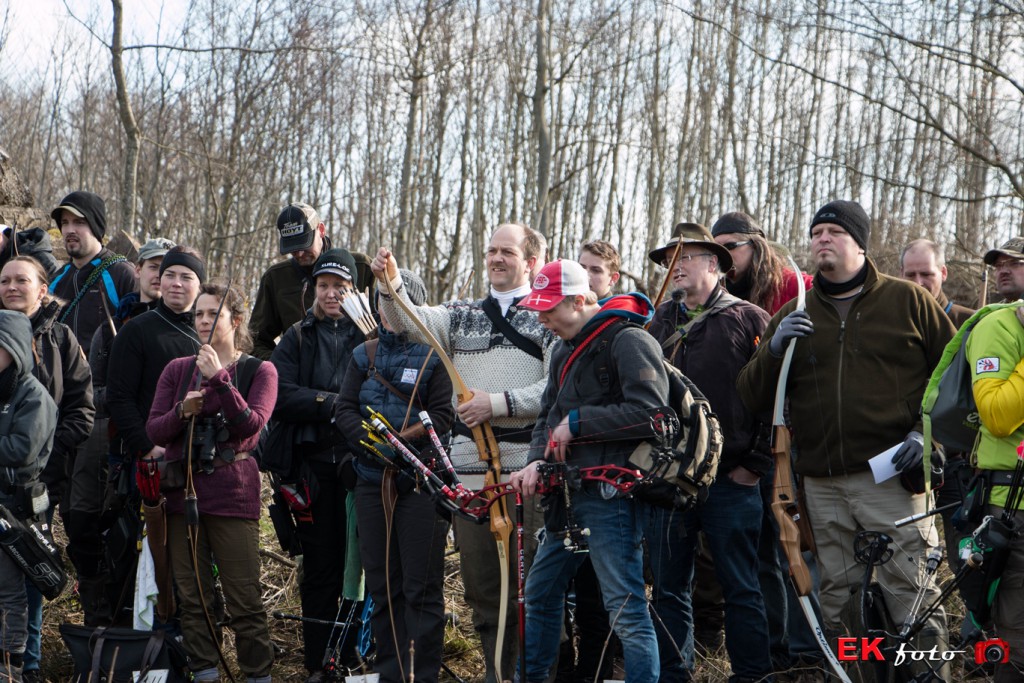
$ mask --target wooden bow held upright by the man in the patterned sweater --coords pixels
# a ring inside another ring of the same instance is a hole
[[[444,366],[444,370],[447,372],[449,376],[452,378],[452,386],[455,388],[456,400],[458,404],[461,405],[472,397],[473,392],[469,390],[466,382],[462,379],[459,371],[455,368],[455,362],[452,357],[449,356],[444,347],[441,345],[437,338],[434,337],[430,329],[423,324],[416,311],[407,304],[398,293],[394,291],[394,286],[391,284],[391,279],[388,278],[387,272],[384,273],[384,286],[387,289],[388,296],[394,301],[395,305],[401,309],[403,313],[412,321],[416,329],[420,331],[423,335],[423,339],[427,344],[434,350],[437,357],[440,359],[441,365]],[[495,432],[490,428],[489,422],[484,422],[475,427],[471,427],[470,431],[473,434],[473,443],[476,445],[476,451],[480,456],[480,460],[487,465],[487,472],[484,476],[485,486],[496,486],[495,490],[497,494],[497,484],[501,483],[502,480],[502,459],[501,452],[498,446],[498,439],[495,437]],[[508,601],[509,601],[509,566],[508,558],[512,554],[512,519],[509,517],[508,503],[505,501],[503,496],[499,497],[499,500],[492,504],[490,510],[490,531],[495,535],[495,541],[498,544],[498,560],[499,568],[501,571],[501,602],[499,603],[499,614],[498,614],[498,644],[495,650],[495,673],[499,681],[504,680],[502,678],[501,661],[503,655],[502,643],[505,640],[505,622],[508,618]]]

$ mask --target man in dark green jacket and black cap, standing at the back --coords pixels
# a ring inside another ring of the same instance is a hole
[[[263,273],[256,291],[256,303],[249,317],[253,337],[253,355],[269,360],[278,338],[306,316],[313,303],[313,264],[331,248],[327,226],[308,204],[289,204],[278,216],[281,254],[291,258],[274,263]],[[355,289],[361,291],[373,282],[370,259],[366,254],[348,250],[355,259]]]

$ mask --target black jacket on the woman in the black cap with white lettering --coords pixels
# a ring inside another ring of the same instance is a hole
[[[334,348],[322,348],[318,334],[322,326],[329,326],[337,334]],[[347,453],[345,437],[332,421],[344,370],[348,368],[352,349],[364,341],[364,334],[347,317],[317,319],[309,312],[302,323],[285,332],[273,349],[270,362],[278,369],[273,419],[297,424],[297,442],[311,444],[307,453],[331,451],[335,446],[340,446],[339,453]],[[341,377],[337,369],[342,370]]]

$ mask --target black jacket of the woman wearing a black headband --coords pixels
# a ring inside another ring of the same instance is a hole
[[[106,409],[123,441],[137,457],[153,450],[145,433],[160,375],[174,358],[195,355],[201,346],[193,312],[175,313],[163,301],[125,323],[114,338],[106,370]],[[112,453],[116,453],[112,443]]]

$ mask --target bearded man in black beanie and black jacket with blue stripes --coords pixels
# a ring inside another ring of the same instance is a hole
[[[50,292],[67,301],[60,322],[71,328],[89,357],[92,335],[135,289],[135,271],[101,243],[106,207],[97,195],[74,191],[50,212],[63,236],[68,263],[50,283]]]

